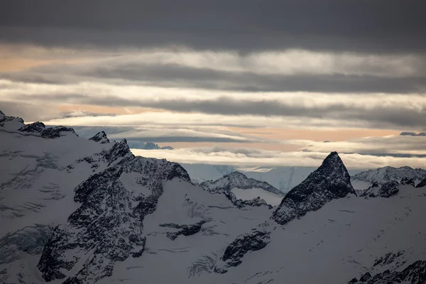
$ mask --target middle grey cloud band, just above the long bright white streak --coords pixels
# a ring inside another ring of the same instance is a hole
[[[59,71],[60,70],[60,71]],[[93,70],[66,75],[58,67],[53,73],[13,72],[0,78],[16,82],[70,84],[87,80],[121,80],[121,84],[151,84],[161,87],[222,89],[242,92],[384,92],[413,94],[426,90],[425,74],[419,77],[378,77],[373,75],[261,75],[248,72],[191,68],[180,65],[125,65],[95,67]],[[130,82],[129,82],[130,81]],[[115,82],[120,84],[120,82]]]

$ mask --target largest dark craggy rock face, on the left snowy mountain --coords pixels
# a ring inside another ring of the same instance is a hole
[[[146,242],[143,219],[155,211],[163,181],[190,181],[177,163],[135,157],[125,140],[103,154],[113,165],[75,188],[80,208],[55,229],[43,249],[38,269],[46,281],[96,283],[112,275],[116,261],[141,256]],[[137,184],[148,187],[151,195],[126,189],[120,180],[124,173],[138,173]],[[192,233],[191,228],[182,229],[184,233]]]

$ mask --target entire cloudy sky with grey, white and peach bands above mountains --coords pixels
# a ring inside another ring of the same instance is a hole
[[[185,163],[425,168],[425,1],[2,1],[0,109]],[[328,141],[328,142],[324,142]]]

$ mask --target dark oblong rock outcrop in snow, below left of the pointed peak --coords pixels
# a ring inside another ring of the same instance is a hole
[[[225,261],[227,267],[238,266],[242,262],[244,254],[249,251],[258,251],[263,249],[271,241],[271,232],[259,226],[248,234],[238,236],[226,247],[222,261]],[[216,271],[224,273],[226,270]]]

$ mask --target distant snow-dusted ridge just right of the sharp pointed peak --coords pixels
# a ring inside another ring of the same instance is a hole
[[[413,169],[410,167],[384,167],[376,170],[367,170],[362,173],[358,173],[351,177],[352,185],[357,190],[365,190],[367,187],[377,182],[379,185],[383,185],[386,182],[395,180],[400,182],[403,179],[413,179],[417,185],[421,180],[426,178],[426,170],[420,168]]]

